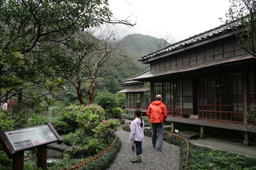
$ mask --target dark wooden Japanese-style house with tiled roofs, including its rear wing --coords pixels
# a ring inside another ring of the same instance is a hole
[[[244,113],[255,105],[256,59],[237,43],[227,25],[221,25],[174,43],[139,59],[150,70],[122,82],[127,94],[126,110],[147,107],[155,95],[163,96],[172,130],[206,134],[228,134],[244,138],[250,134]],[[142,84],[151,83],[151,101]]]

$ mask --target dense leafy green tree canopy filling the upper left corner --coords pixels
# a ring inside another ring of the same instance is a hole
[[[79,68],[67,49],[92,45],[78,48],[72,35],[110,22],[112,13],[108,0],[3,0],[0,16],[0,98],[8,98],[31,86],[63,86]]]

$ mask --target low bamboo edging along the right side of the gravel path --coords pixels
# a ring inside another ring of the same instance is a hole
[[[124,130],[127,130],[127,131],[131,131],[130,130],[130,124],[131,122],[128,122],[128,123],[125,123],[125,127],[124,127]],[[151,129],[144,129],[144,133],[148,134],[148,135],[151,135],[152,134],[152,131]],[[187,143],[187,157],[186,157],[186,165],[185,165],[185,170],[188,170],[188,157],[189,157],[189,143],[188,143],[188,140],[180,135],[177,135],[177,134],[171,134],[169,132],[166,132],[166,131],[163,131],[163,138],[165,139],[170,139],[171,137],[174,137],[175,139],[179,140],[179,141],[185,141]]]

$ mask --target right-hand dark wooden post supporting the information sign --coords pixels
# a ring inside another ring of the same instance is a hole
[[[37,167],[46,170],[47,145],[37,148]]]

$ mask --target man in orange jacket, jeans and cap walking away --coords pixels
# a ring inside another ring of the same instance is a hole
[[[155,147],[157,143],[157,150],[162,151],[163,147],[163,122],[167,118],[167,108],[163,104],[162,95],[155,96],[155,101],[152,102],[147,110],[147,116],[152,125],[152,146]],[[158,131],[158,142],[157,142]]]

